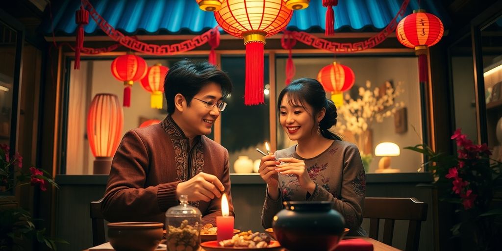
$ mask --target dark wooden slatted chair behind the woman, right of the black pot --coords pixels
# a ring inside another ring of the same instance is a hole
[[[378,239],[380,219],[385,219],[382,242],[392,245],[395,220],[409,220],[406,251],[418,250],[420,227],[427,219],[427,203],[416,198],[364,198],[363,217],[369,218],[369,237]]]

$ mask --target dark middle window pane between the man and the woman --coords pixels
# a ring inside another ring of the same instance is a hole
[[[221,113],[221,145],[228,149],[230,167],[234,172],[234,163],[239,156],[249,161],[238,165],[237,172],[249,172],[249,162],[260,160],[256,148],[265,151],[265,142],[270,143],[269,123],[269,59],[264,59],[265,105],[244,105],[245,58],[225,56],[221,57],[221,69],[224,70],[233,83],[231,96],[226,99],[228,105]],[[242,167],[242,168],[240,168]]]

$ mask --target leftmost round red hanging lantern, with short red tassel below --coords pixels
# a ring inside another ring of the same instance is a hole
[[[147,74],[147,62],[140,56],[128,53],[111,62],[111,74],[124,83],[123,106],[131,106],[131,87]]]

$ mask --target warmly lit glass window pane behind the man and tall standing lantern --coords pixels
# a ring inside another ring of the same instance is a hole
[[[149,66],[161,63],[170,67],[182,58],[146,59]],[[194,61],[207,58],[191,58]],[[118,96],[122,104],[123,82],[118,81],[110,72],[111,59],[82,60],[80,70],[73,69],[69,76],[69,97],[66,137],[66,170],[64,174],[92,174],[94,156],[87,140],[87,112],[92,98],[97,93],[112,93]],[[163,108],[150,107],[150,92],[143,89],[139,81],[135,82],[131,91],[131,107],[123,108],[123,129],[120,137],[131,129],[139,128],[148,119],[163,120],[167,116],[167,103],[163,96]],[[213,134],[209,138],[213,138]]]

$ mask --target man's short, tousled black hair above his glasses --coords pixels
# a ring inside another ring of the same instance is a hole
[[[223,99],[232,92],[230,78],[221,70],[208,62],[192,62],[187,59],[175,63],[167,72],[164,80],[164,93],[166,94],[167,112],[174,112],[174,96],[180,93],[190,106],[193,96],[208,83],[217,83],[221,86]]]

